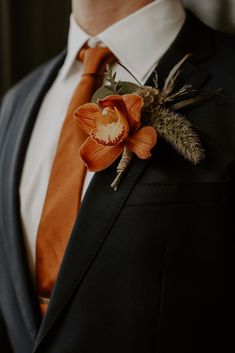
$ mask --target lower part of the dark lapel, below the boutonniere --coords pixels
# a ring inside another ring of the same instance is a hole
[[[148,161],[135,160],[116,192],[110,184],[116,176],[117,164],[93,177],[82,202],[36,347],[80,286],[147,163]]]

